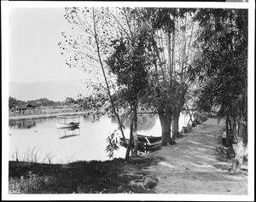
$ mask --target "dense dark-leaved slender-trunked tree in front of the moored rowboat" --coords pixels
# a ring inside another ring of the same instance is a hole
[[[119,86],[124,92],[123,98],[129,103],[131,110],[131,135],[130,142],[134,140],[134,156],[137,156],[137,107],[139,98],[145,94],[148,87],[148,69],[150,67],[150,57],[145,46],[145,35],[147,32],[137,32],[132,35],[132,41],[120,38],[112,42],[113,55],[108,58],[110,70],[117,76]],[[135,38],[135,39],[133,39]],[[148,60],[149,59],[149,60]],[[130,143],[131,145],[131,143]],[[129,155],[127,149],[126,158]]]

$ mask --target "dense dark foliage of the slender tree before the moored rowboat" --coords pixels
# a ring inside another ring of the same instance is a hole
[[[138,95],[143,95],[148,87],[148,69],[150,55],[145,49],[143,36],[137,38],[137,46],[124,38],[114,40],[113,55],[108,58],[110,71],[117,77],[118,86],[125,88],[125,98],[130,103],[137,101]]]

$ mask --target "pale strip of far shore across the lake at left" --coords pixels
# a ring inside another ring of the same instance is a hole
[[[55,118],[58,116],[73,116],[73,115],[85,115],[88,113],[93,113],[90,111],[83,112],[73,112],[73,113],[47,113],[47,114],[32,114],[23,116],[9,117],[9,120],[26,120],[26,119],[39,119],[39,118]]]

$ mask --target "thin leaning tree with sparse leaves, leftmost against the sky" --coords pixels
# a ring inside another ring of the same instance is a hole
[[[65,18],[71,23],[73,32],[70,35],[62,32],[65,41],[58,44],[62,49],[61,54],[65,53],[69,56],[66,59],[67,66],[79,67],[87,72],[89,78],[86,84],[96,89],[96,94],[106,90],[112,112],[118,118],[119,131],[125,137],[112,98],[114,78],[108,73],[106,65],[109,42],[119,36],[119,29],[113,26],[113,21],[116,19],[113,19],[108,8],[66,8]],[[102,82],[105,83],[105,88],[99,88],[102,87]]]

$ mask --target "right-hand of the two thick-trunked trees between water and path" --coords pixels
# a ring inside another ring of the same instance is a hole
[[[172,120],[172,137],[175,139],[180,137],[179,134],[179,116],[183,110],[183,106],[186,102],[186,94],[188,93],[189,83],[188,80],[188,66],[193,60],[195,49],[191,47],[191,44],[195,42],[195,36],[198,31],[198,25],[193,21],[195,9],[181,9],[177,11],[175,17],[175,43],[176,50],[172,50],[176,54],[173,56],[174,66],[173,77],[177,79],[177,102],[173,112]],[[187,105],[187,103],[186,103]],[[190,111],[188,111],[190,113]]]

